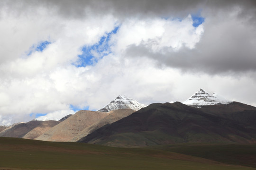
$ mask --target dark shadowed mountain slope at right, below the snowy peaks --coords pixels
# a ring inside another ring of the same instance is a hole
[[[195,108],[180,102],[154,103],[95,130],[79,142],[120,147],[256,143],[256,108],[238,102],[224,106],[226,109],[219,104]]]

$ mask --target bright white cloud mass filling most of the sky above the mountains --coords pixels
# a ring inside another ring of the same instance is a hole
[[[197,50],[199,45],[203,47],[211,43],[219,47],[223,43],[217,44],[220,38],[216,35],[224,34],[230,39],[233,34],[229,34],[229,30],[235,26],[234,30],[238,33],[247,30],[248,34],[243,34],[247,39],[254,31],[252,27],[242,25],[238,14],[234,14],[236,17],[233,20],[219,22],[222,14],[214,17],[214,13],[205,12],[205,23],[195,28],[188,14],[182,20],[172,16],[166,19],[154,13],[150,17],[123,15],[119,18],[104,12],[92,15],[93,10],[90,12],[89,9],[86,8],[87,12],[82,12],[79,17],[68,17],[59,13],[65,10],[58,11],[40,4],[29,10],[20,10],[18,14],[11,8],[1,8],[0,125],[29,121],[31,113],[43,113],[51,118],[58,115],[61,119],[73,112],[71,105],[98,110],[119,94],[145,104],[183,102],[203,88],[210,93],[217,92],[227,100],[256,105],[253,97],[256,95],[254,71],[240,74],[240,78],[236,74],[209,76],[201,72],[183,73],[175,69],[181,66],[171,64],[167,67],[155,60],[161,58],[158,54],[172,51],[177,56],[166,55],[163,63],[183,63],[183,51],[191,52]],[[112,52],[109,55],[91,66],[77,68],[73,65],[79,62],[78,55],[82,53],[83,46],[99,42],[117,25],[118,32],[110,39]],[[255,43],[255,38],[250,40],[251,44]],[[30,47],[42,41],[51,43],[42,52],[34,51],[26,55]],[[139,50],[143,46],[148,53],[157,55],[152,59],[146,56],[147,53],[134,51],[137,57],[130,57],[127,51],[132,46]],[[209,56],[216,54],[212,47],[215,46],[206,46],[199,52]],[[186,60],[190,68],[194,68],[192,61],[196,56],[193,57]],[[214,62],[215,58],[207,61]],[[221,64],[219,60],[218,63]]]

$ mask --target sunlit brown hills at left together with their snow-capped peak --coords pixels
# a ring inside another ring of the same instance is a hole
[[[124,95],[119,95],[102,108],[103,111],[80,110],[74,115],[63,117],[59,121],[36,119],[9,127],[1,126],[0,136],[75,142],[95,129],[122,119],[142,107],[145,107],[145,105]],[[106,112],[105,108],[109,110],[111,108],[111,110]]]

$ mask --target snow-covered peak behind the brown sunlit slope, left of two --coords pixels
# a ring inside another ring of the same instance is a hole
[[[110,110],[117,109],[132,109],[137,111],[144,107],[146,107],[145,104],[141,104],[131,98],[126,97],[125,95],[119,95],[115,100],[111,101],[108,105],[98,111],[109,112]]]

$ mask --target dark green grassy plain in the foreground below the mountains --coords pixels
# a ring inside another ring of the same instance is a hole
[[[203,152],[195,153],[198,149],[208,148],[207,145],[194,146],[194,151],[192,145],[185,144],[158,148],[115,148],[0,137],[0,170],[256,170],[253,163],[247,162],[246,166],[241,166],[243,162],[235,163],[238,158],[224,162],[221,159],[225,159],[225,152],[220,153],[223,154],[220,160]],[[228,146],[230,147],[226,149],[225,145],[221,145],[219,150],[231,150],[233,153],[236,148],[241,147]],[[256,145],[248,145],[248,148],[243,145],[237,152],[240,156],[248,156],[247,152],[252,147],[255,148]],[[208,151],[214,153],[217,148],[218,145],[214,145]],[[256,151],[248,154],[255,155]]]

